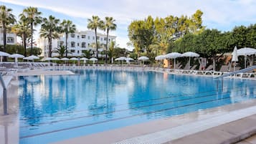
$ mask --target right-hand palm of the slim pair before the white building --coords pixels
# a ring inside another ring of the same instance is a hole
[[[105,30],[107,30],[107,41],[106,41],[106,45],[105,45],[105,63],[107,63],[107,51],[108,51],[108,33],[110,30],[115,30],[116,29],[116,24],[114,23],[115,19],[113,19],[113,17],[105,17],[105,24],[104,24],[104,28]]]

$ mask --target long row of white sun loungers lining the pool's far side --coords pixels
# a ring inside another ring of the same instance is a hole
[[[213,66],[209,65],[207,69],[204,70],[196,70],[196,65],[192,66],[191,69],[189,69],[189,66],[186,65],[184,69],[179,69],[181,66],[179,64],[176,65],[177,69],[166,69],[166,68],[160,68],[160,67],[145,67],[145,65],[120,65],[120,64],[85,64],[82,66],[57,66],[57,64],[50,63],[50,62],[21,62],[19,63],[19,67],[15,67],[14,62],[9,64],[2,64],[1,67],[5,67],[3,71],[22,71],[22,69],[115,69],[115,70],[131,70],[131,71],[141,71],[141,70],[148,70],[148,71],[158,71],[158,72],[171,72],[171,73],[177,73],[177,74],[188,74],[188,75],[224,75],[229,73],[229,66],[223,65],[221,69],[217,72],[212,70]],[[8,68],[6,68],[8,67]],[[234,70],[238,70],[240,67],[236,67],[236,69],[230,69],[230,72]],[[247,73],[239,73],[235,75],[236,77],[255,77],[254,72],[247,72]]]

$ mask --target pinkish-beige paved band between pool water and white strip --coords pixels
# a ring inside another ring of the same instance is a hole
[[[149,123],[130,125],[125,128],[118,128],[114,130],[103,131],[101,133],[95,133],[92,135],[85,135],[82,137],[62,140],[54,144],[68,144],[68,143],[82,144],[84,142],[87,142],[87,143],[90,142],[94,144],[117,143],[118,141],[121,141],[121,140],[136,138],[139,135],[147,135],[147,134],[155,133],[161,130],[166,130],[168,128],[181,126],[187,123],[197,121],[198,119],[204,120],[204,119],[207,119],[208,117],[223,115],[225,113],[229,113],[235,110],[252,107],[252,106],[255,106],[255,104],[256,104],[256,100],[249,100],[247,102],[241,102],[241,103],[236,103],[234,105],[223,106],[224,107],[223,111],[219,111],[219,107],[215,107],[208,110],[202,110],[201,112],[191,112],[184,115],[177,115],[174,117],[164,118],[160,120],[153,120]],[[184,119],[189,119],[189,120],[184,120]]]

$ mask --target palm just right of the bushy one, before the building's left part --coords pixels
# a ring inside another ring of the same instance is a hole
[[[68,39],[68,34],[72,34],[75,32],[76,27],[75,24],[72,24],[72,21],[70,20],[63,20],[62,23],[60,23],[61,26],[61,32],[65,33],[65,38],[66,38],[66,57],[67,57],[67,39]]]

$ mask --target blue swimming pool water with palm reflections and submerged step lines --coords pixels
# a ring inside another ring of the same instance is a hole
[[[19,141],[52,143],[255,98],[255,80],[76,70],[19,77]]]

